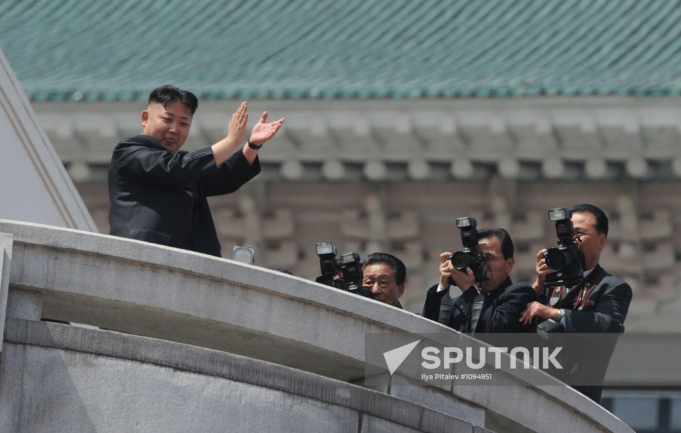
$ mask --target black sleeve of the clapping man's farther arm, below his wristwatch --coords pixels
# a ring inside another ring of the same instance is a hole
[[[199,182],[206,196],[233,193],[244,183],[260,172],[260,160],[255,157],[253,165],[249,165],[241,150],[233,153],[218,167],[203,176]]]

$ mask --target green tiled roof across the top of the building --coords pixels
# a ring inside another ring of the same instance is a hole
[[[679,95],[672,0],[4,0],[33,100]]]

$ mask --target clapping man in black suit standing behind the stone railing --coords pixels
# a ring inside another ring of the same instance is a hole
[[[233,193],[260,172],[258,149],[284,119],[267,112],[244,140],[248,104],[232,115],[227,137],[188,153],[185,144],[196,97],[175,86],[157,87],[142,112],[144,131],[118,143],[109,164],[110,234],[220,256],[206,197]]]

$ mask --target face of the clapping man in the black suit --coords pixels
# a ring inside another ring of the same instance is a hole
[[[142,112],[144,135],[163,144],[170,153],[185,144],[191,126],[191,109],[180,101],[168,103],[165,107],[152,102]]]

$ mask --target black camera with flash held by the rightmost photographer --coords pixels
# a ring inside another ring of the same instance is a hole
[[[552,271],[546,276],[544,287],[573,287],[584,283],[584,251],[575,244],[575,229],[569,208],[549,210],[550,221],[556,222],[558,246],[549,248],[541,257]]]

